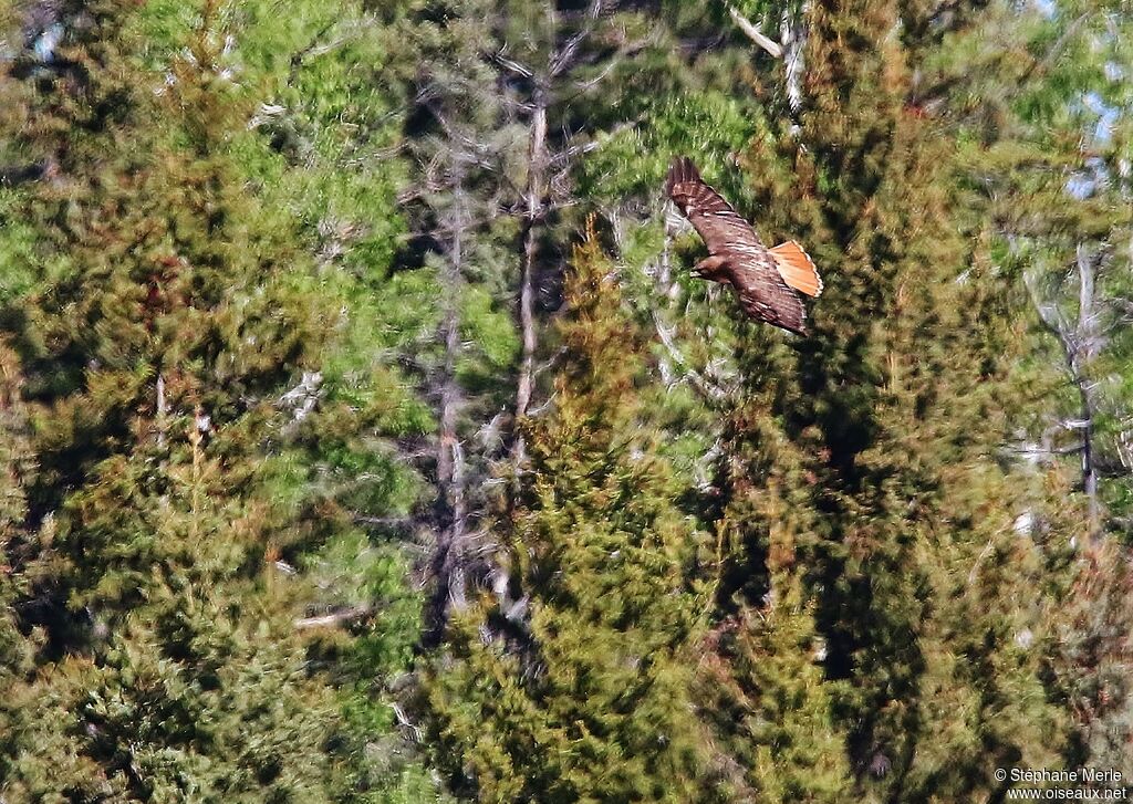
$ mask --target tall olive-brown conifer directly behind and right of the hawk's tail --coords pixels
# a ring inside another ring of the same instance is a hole
[[[837,798],[972,799],[1062,742],[1039,679],[1047,567],[995,460],[1003,293],[987,245],[960,237],[954,143],[909,105],[951,23],[918,14],[815,3],[800,127],[780,110],[748,154],[761,233],[803,242],[826,290],[808,339],[741,336],[721,605],[747,613],[800,567],[846,735]]]

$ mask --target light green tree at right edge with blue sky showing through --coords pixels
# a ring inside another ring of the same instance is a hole
[[[996,114],[998,140],[970,144],[968,156],[985,162],[973,165],[985,177],[979,208],[1038,325],[1029,367],[1048,404],[1022,421],[1021,446],[1077,464],[1094,540],[1124,529],[1128,498],[1126,17],[1106,3],[1019,12],[1011,36],[1025,58],[1015,80],[978,95]]]

